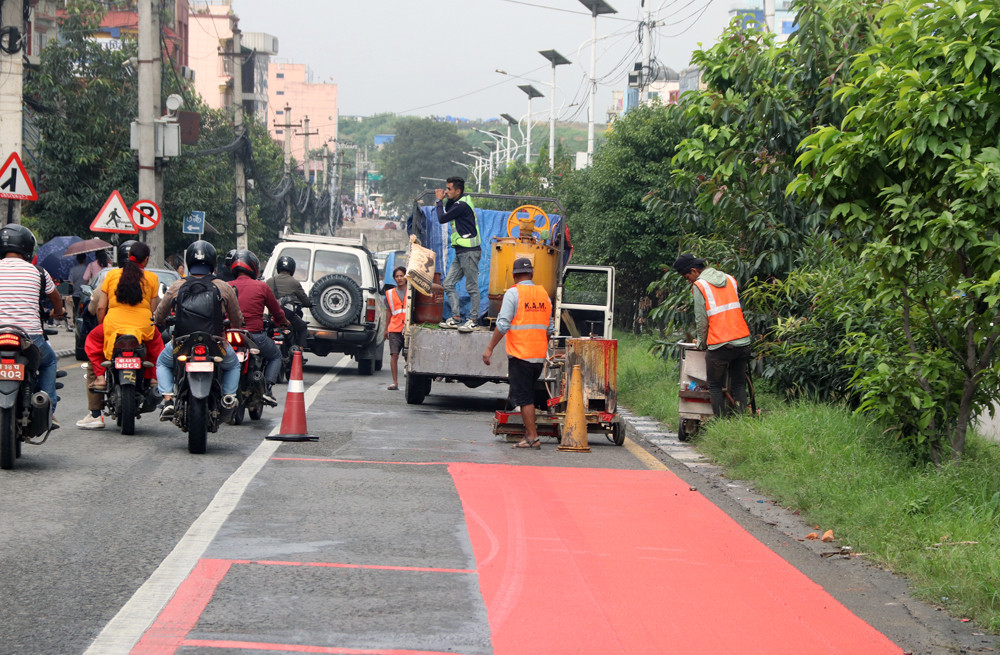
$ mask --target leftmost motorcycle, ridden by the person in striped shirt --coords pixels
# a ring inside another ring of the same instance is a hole
[[[0,469],[14,468],[22,443],[43,444],[52,431],[52,399],[44,391],[32,391],[39,363],[41,353],[27,332],[0,325]],[[56,377],[66,375],[59,373]],[[61,387],[57,382],[56,388]],[[41,440],[32,441],[37,437]]]

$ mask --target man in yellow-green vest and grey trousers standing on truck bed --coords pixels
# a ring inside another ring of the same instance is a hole
[[[476,207],[472,204],[472,199],[465,195],[465,180],[449,177],[445,184],[444,189],[434,190],[437,198],[435,208],[438,223],[455,223],[451,228],[451,247],[455,249],[455,261],[442,284],[451,306],[451,317],[440,325],[444,328],[458,328],[461,332],[471,332],[479,324],[479,259],[483,254],[480,247],[482,240],[479,236],[479,224],[476,222]],[[455,289],[463,277],[470,302],[469,318],[464,323],[458,303],[458,291]]]

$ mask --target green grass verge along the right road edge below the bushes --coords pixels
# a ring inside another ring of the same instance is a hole
[[[676,428],[677,367],[652,343],[619,340],[619,401]],[[970,435],[961,465],[934,468],[845,408],[758,404],[763,417],[706,425],[698,450],[906,576],[925,601],[1000,632],[1000,445]]]

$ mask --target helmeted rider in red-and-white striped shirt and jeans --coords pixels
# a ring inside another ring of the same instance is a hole
[[[62,296],[47,272],[30,264],[35,254],[35,235],[31,230],[11,223],[0,228],[0,325],[16,325],[31,337],[41,354],[38,386],[49,395],[52,411],[56,402],[56,368],[59,360],[45,340],[39,304],[42,296],[52,301],[52,318],[66,316]],[[55,420],[53,427],[59,427]]]

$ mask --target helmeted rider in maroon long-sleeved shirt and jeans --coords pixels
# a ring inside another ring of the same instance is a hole
[[[257,275],[260,274],[260,260],[257,259],[257,255],[249,250],[237,250],[233,256],[232,273],[235,279],[229,284],[236,289],[247,331],[260,349],[260,354],[267,360],[264,367],[264,379],[267,380],[264,402],[273,407],[278,401],[271,394],[271,386],[278,381],[278,373],[281,372],[281,350],[264,331],[264,310],[267,309],[271,313],[275,325],[288,325],[288,319],[270,287],[257,279]]]

